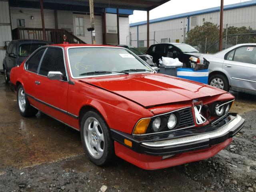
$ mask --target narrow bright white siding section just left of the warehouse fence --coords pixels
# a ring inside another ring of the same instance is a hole
[[[120,44],[130,44],[128,17],[119,17],[119,39]]]

